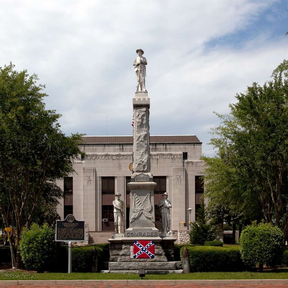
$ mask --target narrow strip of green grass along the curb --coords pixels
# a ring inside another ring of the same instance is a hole
[[[28,273],[26,271],[0,271],[0,280],[112,280],[139,279],[138,274],[106,273]],[[212,279],[288,279],[288,268],[260,272],[198,272],[145,276],[146,280],[212,280]]]

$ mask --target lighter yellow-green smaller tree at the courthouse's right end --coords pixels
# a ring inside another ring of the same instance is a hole
[[[255,219],[261,219],[260,204],[257,199],[251,203],[245,198],[246,193],[239,194],[239,190],[246,191],[245,181],[237,177],[235,167],[229,162],[223,148],[214,157],[202,156],[205,161],[204,196],[209,199],[208,212],[216,224],[223,231],[223,223],[230,224],[233,230],[232,244],[235,244],[236,224],[241,228],[251,224]]]

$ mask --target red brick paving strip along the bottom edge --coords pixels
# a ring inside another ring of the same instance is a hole
[[[1,285],[0,288],[288,288],[288,284],[111,284],[111,285]]]

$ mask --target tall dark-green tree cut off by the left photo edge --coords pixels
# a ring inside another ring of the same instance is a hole
[[[11,63],[0,67],[0,213],[6,227],[15,227],[17,241],[41,205],[62,197],[55,181],[73,172],[80,153],[80,135],[60,131],[60,114],[45,110],[47,95],[37,80]],[[19,267],[9,242],[12,265]]]

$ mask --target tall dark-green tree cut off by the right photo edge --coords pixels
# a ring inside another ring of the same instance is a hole
[[[233,170],[229,201],[243,211],[260,206],[262,217],[288,237],[288,62],[284,60],[263,86],[253,83],[236,95],[222,125],[213,129],[212,145],[225,169]],[[218,160],[217,160],[218,161]],[[222,181],[215,176],[216,183]],[[215,179],[213,181],[215,181]],[[218,182],[217,182],[218,181]],[[227,181],[226,181],[227,183]],[[233,203],[232,202],[232,203]],[[249,210],[248,210],[249,211]],[[249,214],[249,213],[248,213]]]

